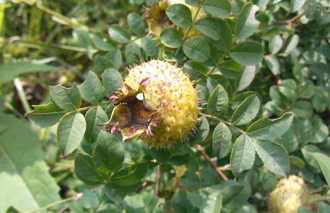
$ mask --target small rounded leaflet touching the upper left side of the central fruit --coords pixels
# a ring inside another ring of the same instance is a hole
[[[106,69],[102,75],[102,83],[106,94],[109,94],[110,91],[117,91],[121,87],[122,81],[122,77],[116,69]]]

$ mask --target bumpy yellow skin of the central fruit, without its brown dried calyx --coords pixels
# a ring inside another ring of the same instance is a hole
[[[146,78],[150,78],[150,83],[144,95],[156,104],[159,119],[157,126],[152,127],[154,136],[143,140],[156,147],[173,145],[195,127],[199,113],[197,92],[182,69],[161,60],[131,68],[124,83],[138,90],[140,82]],[[125,88],[122,92],[128,93]]]

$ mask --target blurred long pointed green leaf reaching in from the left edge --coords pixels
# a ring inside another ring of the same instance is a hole
[[[40,64],[34,61],[13,61],[0,64],[1,83],[12,81],[20,74],[36,72],[52,72],[59,70],[59,67],[47,64]]]

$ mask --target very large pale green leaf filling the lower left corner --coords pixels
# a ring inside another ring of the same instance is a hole
[[[38,136],[13,115],[1,114],[0,124],[7,127],[0,134],[0,211],[10,206],[32,211],[59,201],[60,189],[48,173]]]

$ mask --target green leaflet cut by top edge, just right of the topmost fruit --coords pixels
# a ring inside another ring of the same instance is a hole
[[[232,5],[227,0],[206,0],[203,9],[218,18],[228,18]]]

